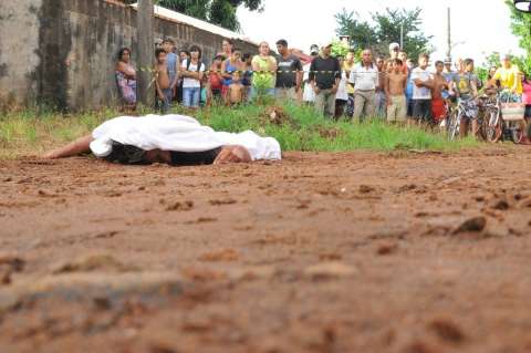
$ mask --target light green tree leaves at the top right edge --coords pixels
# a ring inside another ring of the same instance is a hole
[[[511,31],[519,38],[520,48],[525,51],[523,56],[514,58],[520,70],[531,73],[531,13],[518,11],[512,0],[506,0],[511,10]]]

